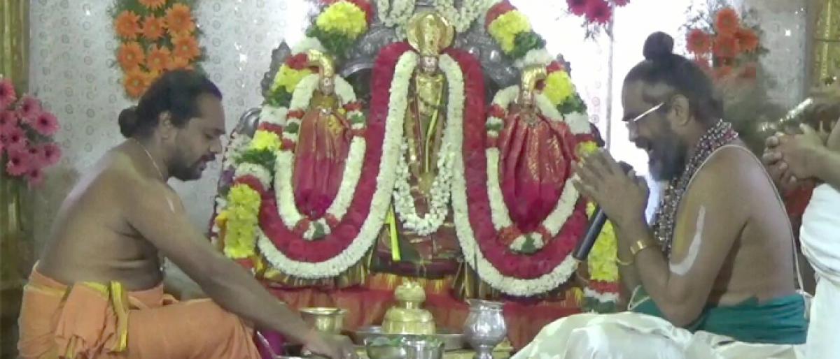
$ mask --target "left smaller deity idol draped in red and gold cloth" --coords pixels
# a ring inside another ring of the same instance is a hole
[[[298,210],[318,219],[339,191],[353,136],[347,118],[339,112],[332,59],[316,50],[310,50],[308,58],[310,65],[318,66],[318,89],[301,119],[293,183]]]

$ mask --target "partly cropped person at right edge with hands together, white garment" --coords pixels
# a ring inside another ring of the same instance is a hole
[[[840,104],[840,86],[820,92],[820,101]],[[802,129],[799,135],[768,138],[764,163],[783,187],[795,185],[797,179],[819,183],[800,229],[802,252],[818,277],[805,352],[809,359],[836,358],[840,353],[840,126],[833,124],[827,138],[811,127]]]

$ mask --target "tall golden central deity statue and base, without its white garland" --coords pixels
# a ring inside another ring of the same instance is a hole
[[[406,225],[407,216],[401,211],[406,206],[393,205],[377,255],[381,265],[375,267],[399,275],[441,278],[457,271],[460,254],[449,205],[449,188],[443,195],[435,190],[442,169],[440,159],[441,151],[445,151],[444,134],[450,105],[449,79],[441,68],[441,59],[445,56],[444,50],[453,44],[454,28],[438,13],[418,13],[408,24],[407,38],[417,53],[417,65],[407,84],[403,122],[402,160],[409,172],[410,195],[395,193],[394,201],[412,200],[413,204],[407,205],[412,207],[412,215],[433,220],[422,225],[425,226],[423,230],[412,228]],[[447,198],[435,199],[436,195]],[[436,222],[434,218],[437,218]]]

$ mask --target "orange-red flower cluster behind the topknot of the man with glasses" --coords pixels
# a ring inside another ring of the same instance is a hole
[[[759,57],[767,52],[761,46],[758,25],[749,24],[734,8],[717,3],[684,28],[686,49],[713,78],[755,79]]]

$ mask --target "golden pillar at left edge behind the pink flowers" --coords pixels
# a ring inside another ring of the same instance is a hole
[[[29,87],[29,2],[0,0],[0,75],[20,93]],[[2,157],[2,155],[0,155]],[[24,268],[32,250],[26,184],[0,168],[0,358],[15,357]],[[30,199],[31,200],[31,199]],[[28,230],[29,229],[29,230]]]

